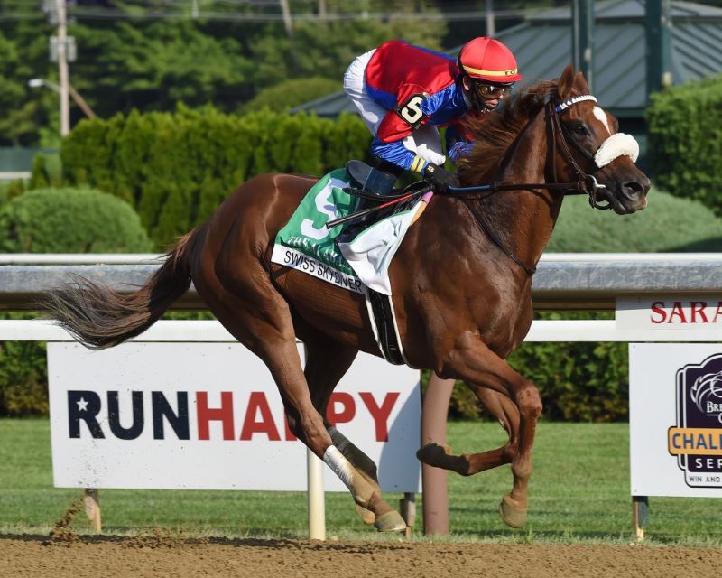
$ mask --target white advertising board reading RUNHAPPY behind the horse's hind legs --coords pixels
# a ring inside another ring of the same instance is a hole
[[[53,342],[48,373],[56,487],[306,489],[306,448],[240,344]],[[375,461],[382,489],[419,491],[418,371],[360,353],[327,416]],[[326,489],[346,490],[324,475]]]

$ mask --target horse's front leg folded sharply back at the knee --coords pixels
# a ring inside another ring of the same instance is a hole
[[[416,456],[424,463],[456,471],[462,476],[471,476],[481,471],[491,470],[511,463],[516,453],[519,438],[519,410],[508,396],[486,387],[469,386],[477,399],[499,420],[499,424],[509,434],[509,440],[503,446],[488,452],[454,454],[448,445],[427,443]]]

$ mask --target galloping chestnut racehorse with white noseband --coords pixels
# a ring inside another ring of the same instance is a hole
[[[499,510],[512,527],[522,527],[527,516],[542,401],[532,381],[504,358],[532,323],[533,266],[569,190],[553,184],[579,182],[593,206],[606,201],[618,214],[643,209],[650,186],[634,166],[634,154],[602,147],[616,133],[616,119],[586,95],[586,80],[569,65],[560,79],[542,81],[488,115],[459,175],[467,185],[503,182],[504,190],[463,201],[461,195],[435,195],[390,267],[408,364],[463,380],[509,436],[503,447],[487,452],[454,455],[431,443],[417,455],[462,475],[511,463],[513,486]],[[556,112],[555,105],[561,105]],[[607,157],[612,150],[611,160],[595,165],[602,149]],[[374,462],[323,417],[356,353],[381,355],[364,297],[271,262],[276,233],[314,182],[292,174],[255,177],[180,238],[137,291],[119,293],[76,279],[51,292],[45,306],[88,347],[112,347],[150,327],[192,281],[226,329],[264,360],[292,432],[345,482],[362,519],[380,531],[402,530],[402,517],[381,497]],[[519,188],[509,190],[514,183]],[[305,369],[297,337],[308,351]]]

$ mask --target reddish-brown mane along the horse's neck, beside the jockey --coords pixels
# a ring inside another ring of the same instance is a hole
[[[474,148],[458,162],[462,182],[478,184],[498,166],[510,144],[544,106],[557,85],[558,79],[542,80],[523,88],[514,98],[505,99],[504,106],[494,112],[467,117],[464,128]]]

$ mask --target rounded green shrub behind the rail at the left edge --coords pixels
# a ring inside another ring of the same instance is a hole
[[[123,253],[151,249],[134,210],[90,189],[28,191],[0,210],[7,253]]]

